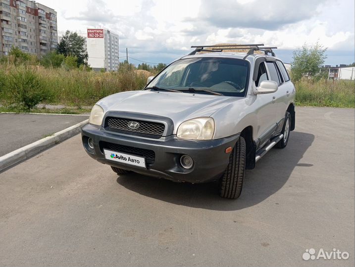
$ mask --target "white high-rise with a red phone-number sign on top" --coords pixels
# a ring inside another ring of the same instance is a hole
[[[87,30],[88,63],[93,70],[118,69],[118,35],[106,29]]]

